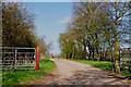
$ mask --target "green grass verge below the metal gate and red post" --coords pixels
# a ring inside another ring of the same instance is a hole
[[[28,84],[33,79],[37,79],[55,69],[56,64],[49,59],[40,61],[38,72],[36,71],[14,71],[2,73],[2,85],[21,85]]]

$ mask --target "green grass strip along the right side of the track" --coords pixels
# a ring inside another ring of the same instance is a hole
[[[99,67],[99,69],[105,70],[105,71],[112,71],[112,69],[114,69],[114,63],[111,63],[111,62],[91,61],[91,60],[75,60],[75,59],[69,59],[69,60],[70,61],[76,61],[76,62],[80,62],[80,63],[90,64],[90,65],[93,65],[95,67]],[[127,70],[121,71],[121,75],[131,79],[131,73]]]

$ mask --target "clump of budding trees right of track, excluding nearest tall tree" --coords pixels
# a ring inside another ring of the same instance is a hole
[[[59,38],[62,53],[73,54],[68,59],[95,60],[95,54],[111,52],[107,47],[111,47],[114,26],[100,7],[99,3],[74,3],[73,21]]]

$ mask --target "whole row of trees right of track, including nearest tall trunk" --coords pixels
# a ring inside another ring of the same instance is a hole
[[[130,4],[131,2],[74,3],[72,22],[60,36],[62,54],[67,59],[111,61],[115,63],[115,72],[119,73],[121,38],[127,39],[130,34],[127,27],[130,25]],[[120,38],[121,34],[127,37]]]

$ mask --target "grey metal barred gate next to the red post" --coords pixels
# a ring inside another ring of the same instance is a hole
[[[2,70],[35,69],[35,48],[1,47],[0,50]]]

